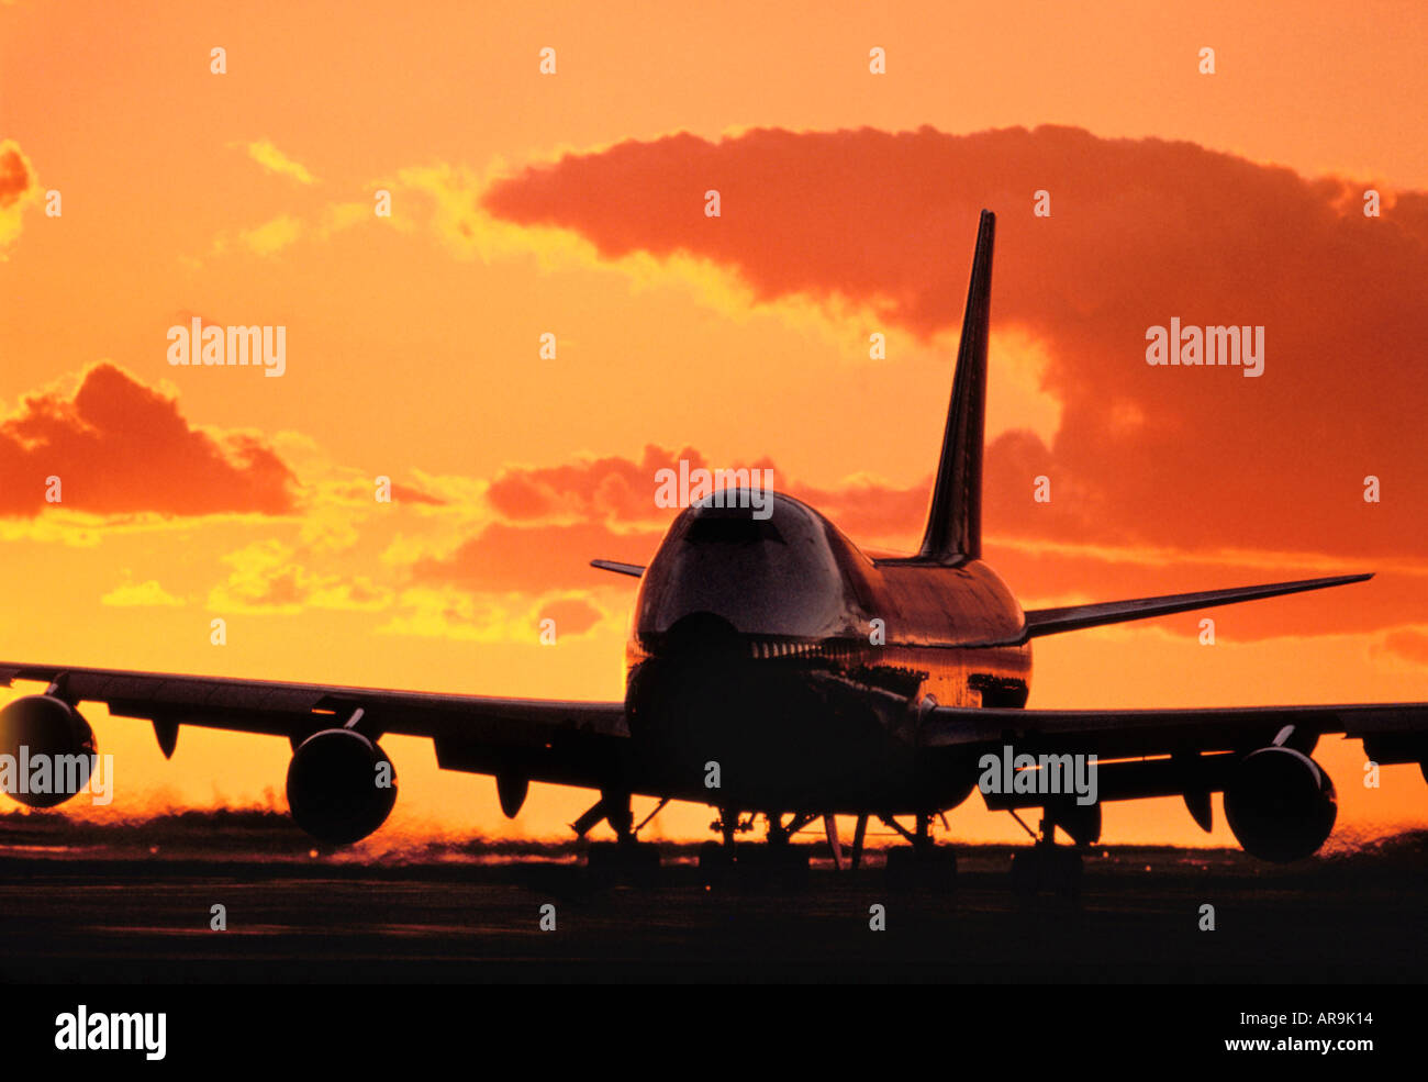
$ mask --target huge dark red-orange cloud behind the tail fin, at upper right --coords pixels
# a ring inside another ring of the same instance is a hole
[[[1368,218],[1364,187],[1068,127],[755,130],[568,154],[493,183],[483,206],[608,260],[707,260],[758,301],[863,305],[924,340],[958,325],[991,207],[994,325],[1044,351],[1062,413],[1050,443],[1014,431],[990,447],[987,530],[1294,548],[1357,570],[1421,554],[1428,504],[1428,194],[1385,191]],[[708,188],[721,218],[704,216]],[[1040,188],[1050,218],[1031,213]],[[1147,365],[1147,328],[1172,317],[1264,325],[1264,375]]]

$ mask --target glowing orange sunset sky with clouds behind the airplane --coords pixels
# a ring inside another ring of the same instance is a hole
[[[1428,698],[1421,6],[408,7],[0,4],[0,657],[615,698],[634,582],[585,561],[650,555],[658,465],[770,464],[915,540],[991,206],[988,558],[1028,607],[1379,571],[1221,610],[1212,648],[1194,614],[1038,641],[1031,705]],[[194,315],[286,325],[286,374],[170,367]],[[1150,368],[1172,315],[1267,325],[1265,375]],[[283,741],[164,762],[90,719],[106,815],[281,794]],[[507,825],[490,779],[388,751],[390,829],[551,835],[590,799]],[[1358,745],[1321,752],[1347,836],[1422,822],[1417,768],[1365,791]],[[951,825],[1020,836],[975,799]]]

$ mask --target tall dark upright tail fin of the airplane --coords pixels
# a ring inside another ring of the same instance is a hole
[[[932,504],[917,560],[951,564],[981,555],[982,423],[987,410],[987,321],[991,310],[991,246],[997,216],[981,213],[972,280],[967,288],[962,341],[957,348],[952,401],[942,433]]]

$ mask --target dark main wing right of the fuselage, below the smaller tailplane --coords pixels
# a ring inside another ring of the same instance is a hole
[[[1428,702],[1325,707],[1208,707],[1190,709],[1011,709],[937,707],[921,724],[928,748],[1000,748],[1048,755],[1128,759],[1252,751],[1292,725],[1292,747],[1321,735],[1364,739],[1378,762],[1418,762],[1428,755]],[[1379,758],[1375,751],[1384,751]]]

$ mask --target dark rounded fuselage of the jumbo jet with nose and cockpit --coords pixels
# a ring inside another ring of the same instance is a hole
[[[724,502],[685,510],[641,580],[627,714],[651,769],[690,799],[761,811],[960,804],[972,767],[914,767],[907,704],[1025,705],[1031,647],[1007,585],[980,560],[874,560],[787,495],[767,518]]]

